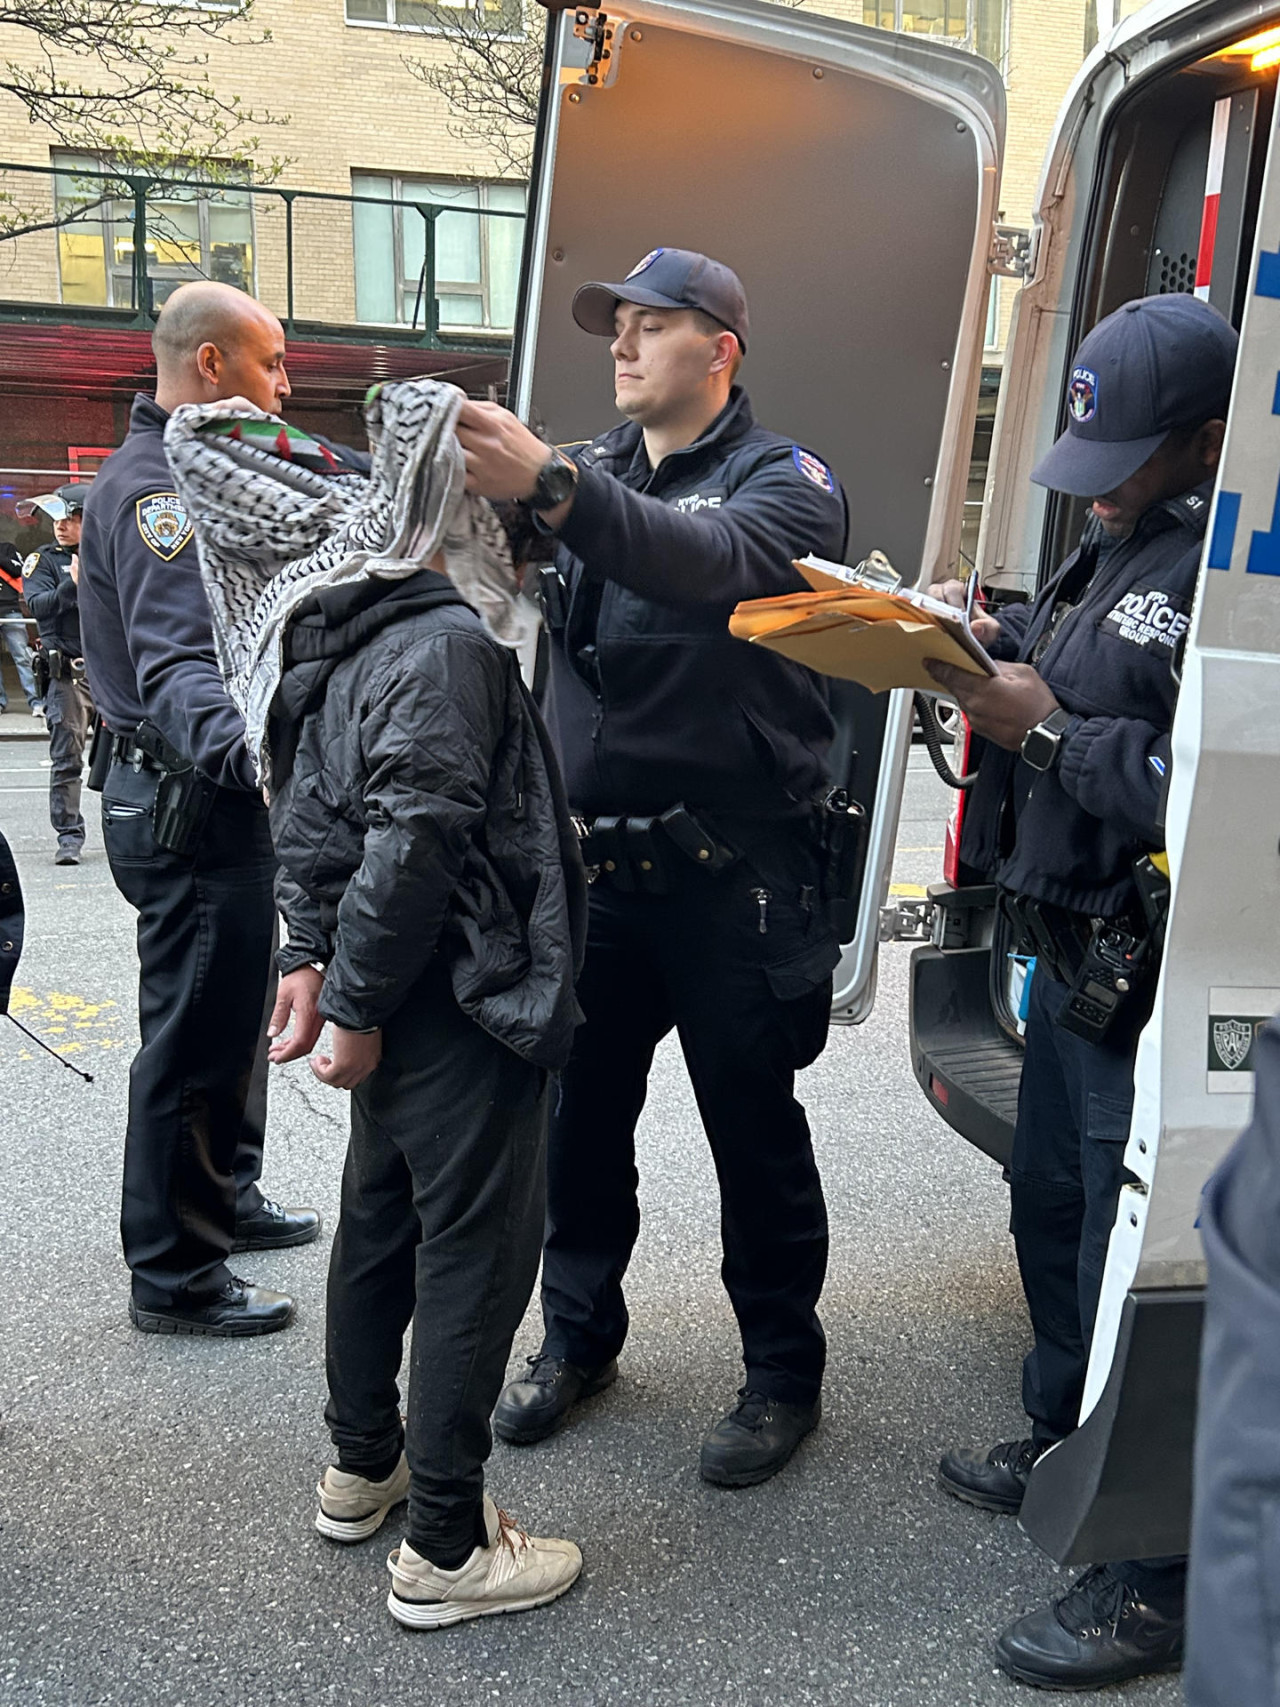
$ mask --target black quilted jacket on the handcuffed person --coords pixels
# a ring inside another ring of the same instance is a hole
[[[362,1031],[437,956],[459,1007],[551,1070],[580,1012],[585,881],[514,654],[432,570],[329,587],[290,623],[271,724],[282,971],[326,964]]]

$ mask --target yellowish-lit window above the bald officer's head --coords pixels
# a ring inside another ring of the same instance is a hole
[[[109,169],[87,154],[55,152],[58,273],[63,302],[138,307],[133,300],[133,196],[128,184],[87,178]],[[198,176],[193,169],[193,178]],[[236,184],[159,183],[147,195],[150,306],[189,278],[253,290],[253,207]],[[143,307],[147,304],[142,304]]]

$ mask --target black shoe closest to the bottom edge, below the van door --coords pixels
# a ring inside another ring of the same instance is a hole
[[[1091,1565],[1065,1594],[1010,1623],[995,1661],[1041,1690],[1099,1690],[1181,1671],[1183,1630],[1183,1618],[1147,1606],[1108,1565]]]

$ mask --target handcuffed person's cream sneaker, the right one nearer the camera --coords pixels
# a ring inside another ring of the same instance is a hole
[[[488,1547],[476,1547],[457,1570],[437,1570],[401,1541],[387,1558],[387,1611],[411,1630],[440,1630],[464,1618],[529,1611],[558,1599],[577,1582],[582,1553],[572,1541],[526,1535],[485,1495]]]

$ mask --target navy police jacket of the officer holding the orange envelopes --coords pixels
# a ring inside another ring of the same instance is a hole
[[[1205,485],[1152,505],[1111,550],[1091,522],[1039,596],[1000,613],[992,654],[1034,662],[1070,714],[1051,770],[981,748],[961,860],[1000,888],[1099,918],[1137,912],[1133,860],[1164,847],[1174,667],[1210,497]]]

